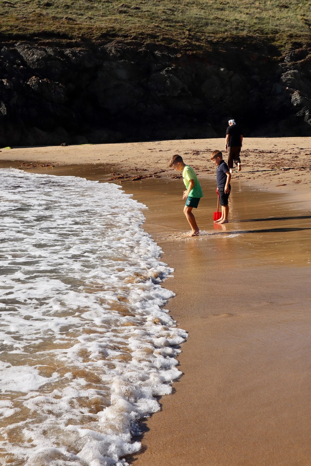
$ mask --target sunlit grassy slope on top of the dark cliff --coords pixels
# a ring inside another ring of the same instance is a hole
[[[0,0],[7,38],[126,38],[179,46],[232,36],[309,41],[309,0]]]

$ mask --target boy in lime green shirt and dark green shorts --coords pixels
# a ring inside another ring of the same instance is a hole
[[[182,171],[182,178],[184,180],[186,191],[184,191],[182,199],[186,199],[186,205],[184,208],[184,214],[191,226],[190,236],[198,236],[200,233],[199,227],[192,213],[193,208],[197,208],[200,198],[203,197],[203,192],[199,180],[194,173],[194,169],[189,165],[186,165],[182,157],[178,154],[173,155],[171,158],[169,167],[173,167],[176,171]]]

